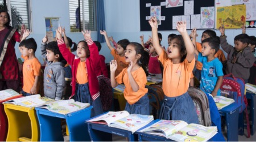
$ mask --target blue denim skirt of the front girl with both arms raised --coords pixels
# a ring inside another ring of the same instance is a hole
[[[195,105],[188,92],[178,97],[164,96],[159,119],[199,124]]]

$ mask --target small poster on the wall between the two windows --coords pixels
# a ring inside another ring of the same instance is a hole
[[[56,29],[58,29],[59,25],[59,18],[46,18],[46,35],[48,42],[55,41]]]

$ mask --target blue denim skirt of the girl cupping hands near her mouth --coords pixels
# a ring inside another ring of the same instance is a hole
[[[126,102],[125,110],[130,114],[150,115],[150,104],[147,93],[133,105]]]

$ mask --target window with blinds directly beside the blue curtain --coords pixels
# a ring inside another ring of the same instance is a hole
[[[71,32],[81,32],[83,28],[96,31],[94,6],[94,0],[69,0]]]

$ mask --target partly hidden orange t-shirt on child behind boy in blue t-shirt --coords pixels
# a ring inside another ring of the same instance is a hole
[[[202,45],[199,42],[196,42],[196,48],[201,53],[202,52]],[[221,62],[226,61],[226,57],[221,49],[217,51],[214,55],[215,58],[218,58]],[[196,69],[202,70],[203,64],[199,61],[196,61]]]

